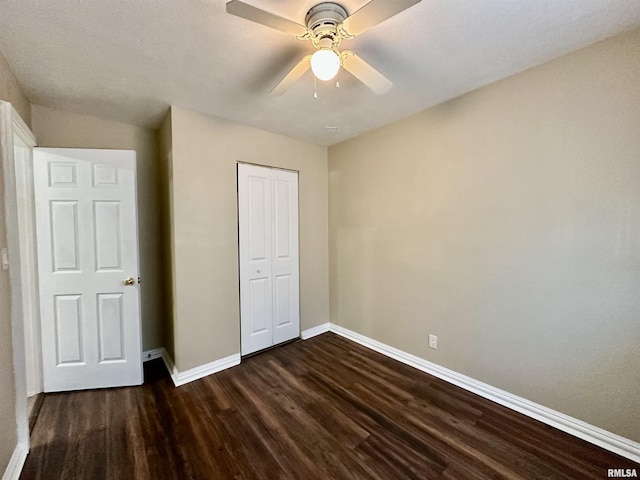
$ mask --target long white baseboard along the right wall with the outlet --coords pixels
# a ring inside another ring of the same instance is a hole
[[[564,413],[547,408],[538,403],[519,397],[499,388],[493,387],[486,383],[475,380],[461,373],[441,367],[435,363],[429,362],[423,358],[417,357],[407,352],[403,352],[397,348],[391,347],[384,343],[365,337],[359,333],[348,330],[334,323],[329,324],[329,331],[336,333],[342,337],[352,340],[360,345],[364,345],[371,350],[382,353],[387,357],[391,357],[406,365],[410,365],[418,370],[429,373],[434,377],[438,377],[449,383],[464,388],[481,397],[503,405],[511,410],[522,413],[528,417],[539,420],[542,423],[550,425],[569,433],[575,437],[581,438],[589,443],[593,443],[611,452],[617,453],[625,458],[640,462],[640,443],[624,438],[615,433],[608,432],[602,428],[590,425],[577,418],[570,417]],[[304,336],[303,336],[304,338]]]

